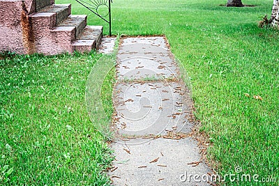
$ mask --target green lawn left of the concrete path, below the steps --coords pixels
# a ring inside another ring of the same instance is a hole
[[[110,185],[111,150],[84,101],[87,76],[100,56],[0,61],[0,185]]]

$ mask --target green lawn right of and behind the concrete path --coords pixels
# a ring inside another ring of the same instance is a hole
[[[213,141],[208,157],[218,163],[219,173],[234,173],[241,166],[244,173],[279,180],[279,36],[257,27],[259,17],[270,15],[273,1],[243,0],[255,7],[219,6],[225,2],[116,0],[112,32],[167,36],[192,79],[200,130]],[[89,13],[70,3],[73,13]],[[107,25],[91,13],[89,24],[104,25],[108,33]]]

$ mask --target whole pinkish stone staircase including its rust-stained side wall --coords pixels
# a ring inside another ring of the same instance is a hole
[[[53,55],[98,49],[103,38],[103,26],[86,26],[87,15],[71,15],[70,4],[54,4],[54,0],[25,0],[24,3],[29,7],[29,12],[20,0],[0,0],[0,8],[10,7],[8,10],[11,12],[3,11],[7,16],[0,27],[0,32],[4,33],[0,41],[6,42],[1,42],[3,46],[0,43],[0,51],[8,49],[18,54]],[[11,28],[8,26],[9,20],[18,20],[19,24]],[[13,30],[17,32],[8,36]]]

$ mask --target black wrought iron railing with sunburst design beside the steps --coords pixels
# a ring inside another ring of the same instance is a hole
[[[110,36],[112,36],[112,0],[75,0],[85,8],[107,22],[110,26]]]

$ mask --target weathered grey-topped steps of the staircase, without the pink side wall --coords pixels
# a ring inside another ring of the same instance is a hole
[[[71,15],[70,4],[52,4],[40,8],[38,12],[56,14],[56,25],[51,30],[52,37],[56,43],[67,45],[66,48],[70,45],[70,51],[67,52],[90,52],[100,45],[103,26],[86,26],[87,15]]]

